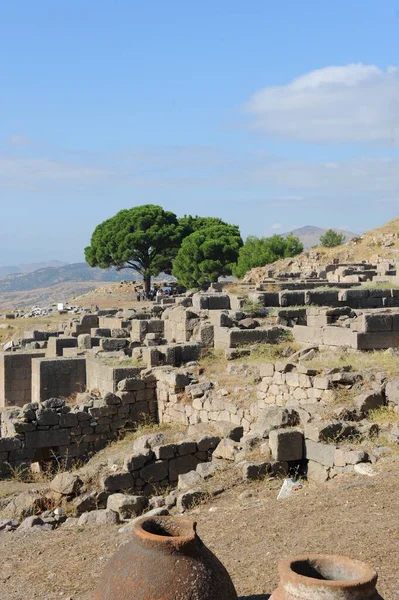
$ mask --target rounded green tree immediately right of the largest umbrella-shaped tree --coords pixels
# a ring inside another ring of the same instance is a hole
[[[183,240],[172,273],[187,288],[210,284],[222,275],[231,275],[241,246],[235,225],[200,228]]]

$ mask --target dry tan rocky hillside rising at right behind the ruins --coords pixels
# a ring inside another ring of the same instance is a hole
[[[248,271],[244,281],[259,283],[268,277],[297,271],[318,270],[333,260],[341,263],[368,261],[371,263],[388,260],[399,262],[399,218],[373,229],[362,236],[355,237],[336,248],[312,248],[294,258],[286,258],[275,263]]]

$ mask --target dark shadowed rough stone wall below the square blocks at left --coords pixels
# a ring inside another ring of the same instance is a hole
[[[119,381],[116,394],[89,398],[69,406],[50,398],[6,410],[1,415],[0,471],[10,465],[84,458],[116,439],[118,432],[135,429],[142,421],[156,421],[153,378]]]

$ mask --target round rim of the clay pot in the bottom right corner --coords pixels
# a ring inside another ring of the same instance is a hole
[[[358,571],[359,576],[354,579],[334,580],[307,577],[306,575],[296,573],[292,568],[294,563],[304,561],[340,563],[349,568],[352,567],[355,572]],[[348,590],[351,588],[359,590],[362,589],[362,587],[369,587],[370,585],[375,586],[378,579],[376,571],[368,563],[339,554],[300,554],[298,556],[289,556],[280,561],[278,570],[282,581],[290,582],[294,585],[323,587],[331,590],[342,587]]]

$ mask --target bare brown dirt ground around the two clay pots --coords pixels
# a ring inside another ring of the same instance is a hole
[[[377,463],[375,477],[305,484],[295,496],[279,501],[281,481],[239,483],[188,514],[227,567],[241,599],[268,597],[278,583],[282,557],[327,552],[370,562],[379,573],[382,597],[397,600],[398,467],[396,457]],[[0,484],[0,493],[5,485]],[[246,489],[252,496],[242,500]],[[128,540],[118,528],[0,533],[1,599],[91,599],[105,562]]]

